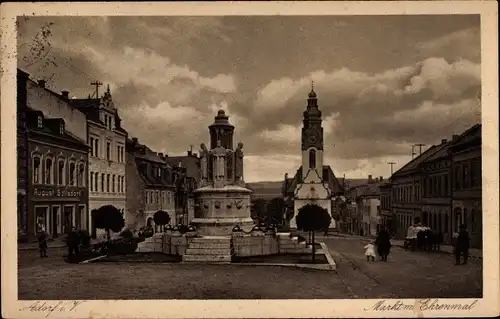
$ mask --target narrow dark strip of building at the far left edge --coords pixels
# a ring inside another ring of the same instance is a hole
[[[26,123],[29,74],[17,70],[17,230],[20,240],[28,234],[28,132]]]

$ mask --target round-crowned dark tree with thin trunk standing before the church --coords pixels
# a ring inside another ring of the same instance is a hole
[[[316,260],[316,247],[314,243],[314,232],[328,229],[332,218],[328,210],[315,204],[307,204],[299,209],[296,222],[297,229],[312,232],[313,260]]]

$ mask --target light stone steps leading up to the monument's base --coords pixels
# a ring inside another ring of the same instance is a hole
[[[231,237],[204,236],[193,238],[182,256],[185,263],[218,263],[231,262]]]

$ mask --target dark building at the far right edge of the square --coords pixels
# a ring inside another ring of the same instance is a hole
[[[481,124],[476,124],[451,141],[452,213],[450,228],[458,232],[465,224],[471,246],[482,247]]]

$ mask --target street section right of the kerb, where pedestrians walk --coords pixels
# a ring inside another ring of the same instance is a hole
[[[337,262],[337,273],[359,298],[480,298],[482,260],[455,266],[446,253],[405,251],[393,246],[387,262],[367,262],[360,238],[320,237]]]

